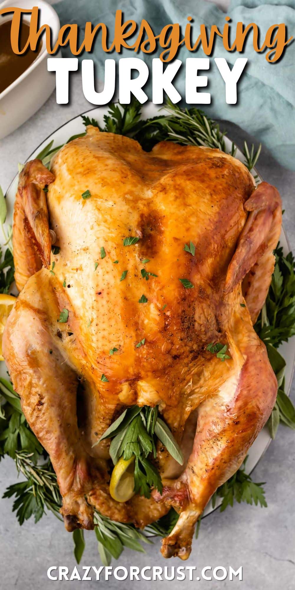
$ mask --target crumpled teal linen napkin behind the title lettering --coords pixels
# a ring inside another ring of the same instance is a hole
[[[217,6],[203,0],[186,0],[185,4],[179,0],[84,0],[75,3],[73,0],[62,0],[54,5],[60,17],[61,24],[76,22],[84,28],[86,21],[93,24],[104,22],[110,31],[112,39],[114,15],[118,8],[122,9],[124,18],[135,19],[139,23],[146,18],[158,34],[161,28],[169,23],[179,22],[184,30],[186,18],[194,18],[196,37],[200,24],[216,24],[222,30],[225,16],[231,17],[232,31],[238,21],[248,24],[255,22],[260,28],[261,39],[268,28],[276,23],[284,22],[288,27],[288,37],[295,35],[295,0],[232,0],[228,11],[222,12]],[[201,72],[208,75],[208,90],[211,92],[211,104],[201,106],[213,119],[230,120],[248,133],[254,135],[273,154],[281,165],[295,170],[295,43],[292,41],[277,63],[269,64],[265,53],[255,53],[250,40],[247,42],[243,54],[225,51],[222,40],[217,38],[214,53],[210,56],[210,70]],[[159,50],[158,53],[160,53]],[[64,57],[69,57],[70,50],[63,50]],[[225,57],[230,67],[237,57],[248,57],[248,63],[240,81],[238,82],[238,103],[225,103],[225,84],[218,72],[213,57]],[[120,55],[106,54],[97,41],[94,53],[83,54],[81,57],[92,58],[98,64],[98,75],[104,77],[104,60],[120,57],[140,57],[150,66],[157,54],[134,54],[133,51],[123,50]],[[190,53],[181,48],[177,57],[183,61],[175,87],[179,93],[185,94],[185,60],[187,57],[205,57],[202,50]],[[100,77],[100,76],[99,76]],[[145,88],[150,97],[150,84]],[[207,89],[203,89],[207,91]]]

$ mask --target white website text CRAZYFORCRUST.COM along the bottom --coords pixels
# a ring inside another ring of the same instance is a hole
[[[99,568],[96,568],[94,565],[87,565],[81,566],[77,568],[75,566],[71,571],[69,568],[65,566],[55,566],[52,565],[47,570],[47,576],[50,580],[57,581],[57,580],[81,580],[89,581],[89,580],[96,580],[96,581],[105,581],[109,580],[110,578],[114,578],[119,580],[119,582],[123,582],[124,580],[148,580],[148,581],[155,581],[155,580],[178,580],[178,581],[200,581],[202,580],[225,580],[228,579],[232,581],[234,578],[242,581],[242,566],[237,569],[232,568],[229,566],[225,568],[222,565],[218,565],[213,568],[210,565],[205,566],[204,568],[200,569],[197,568],[195,565],[187,565],[187,566],[165,566],[161,568],[160,566],[146,566],[144,568],[138,568],[137,566],[129,566],[129,568],[125,568],[124,566],[103,566],[101,565]]]

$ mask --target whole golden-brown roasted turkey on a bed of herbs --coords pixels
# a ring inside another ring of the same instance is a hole
[[[57,474],[67,530],[93,528],[94,508],[144,527],[173,506],[180,516],[162,553],[188,558],[196,521],[276,399],[253,323],[280,228],[277,189],[255,188],[241,162],[215,149],[161,142],[147,153],[89,126],[51,171],[25,165],[13,234],[20,293],[3,352]],[[126,247],[126,237],[139,240]],[[210,343],[227,345],[230,358]],[[159,405],[185,462],[159,444],[162,494],[119,503],[109,493],[110,441],[95,443],[131,405]]]

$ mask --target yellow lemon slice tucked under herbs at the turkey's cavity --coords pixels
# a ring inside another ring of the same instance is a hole
[[[110,495],[117,502],[127,502],[135,494],[134,460],[134,455],[128,461],[121,457],[113,468],[110,479]]]

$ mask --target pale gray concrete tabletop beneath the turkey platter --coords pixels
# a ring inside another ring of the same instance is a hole
[[[24,161],[32,150],[54,129],[71,117],[91,108],[84,99],[80,87],[72,90],[71,104],[66,107],[58,106],[55,96],[31,120],[25,123],[11,136],[0,144],[0,182],[5,190],[15,175],[17,163]],[[244,139],[251,143],[253,138],[230,123],[223,123],[228,129],[228,135],[242,144]],[[255,140],[254,140],[255,142]],[[286,171],[278,166],[265,149],[261,153],[258,169],[268,182],[273,183],[280,190],[283,197],[284,225],[290,240],[291,248],[295,251],[295,202],[294,186],[295,173]],[[294,399],[294,383],[291,391]],[[195,575],[206,566],[222,565],[225,568],[237,569],[243,566],[243,581],[155,581],[140,582],[143,590],[151,584],[164,589],[175,590],[180,586],[200,589],[234,588],[240,584],[243,590],[285,590],[294,588],[295,566],[295,517],[294,517],[294,440],[293,431],[279,427],[277,439],[268,448],[266,454],[255,468],[255,481],[266,481],[267,509],[236,504],[224,513],[215,511],[203,520],[199,539],[195,541],[191,557],[188,562],[166,562],[159,553],[160,543],[155,540],[154,545],[148,547],[146,555],[124,550],[118,564],[142,568],[145,565],[196,566]],[[0,464],[0,496],[9,484],[16,481],[15,465],[6,458]],[[52,565],[67,566],[73,570],[73,542],[71,535],[65,532],[63,524],[51,514],[45,516],[35,525],[33,520],[25,522],[20,527],[15,514],[12,513],[12,500],[0,500],[0,587],[5,590],[21,590],[31,588],[47,590],[53,582],[47,578],[47,569]],[[97,554],[97,542],[94,533],[86,533],[86,550],[79,571],[82,566],[100,565]],[[64,588],[65,581],[55,582]],[[80,588],[81,582],[72,581],[71,588]],[[87,588],[95,588],[97,582],[87,583]],[[130,581],[109,582],[100,581],[100,587],[117,590],[130,588]]]

